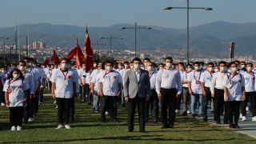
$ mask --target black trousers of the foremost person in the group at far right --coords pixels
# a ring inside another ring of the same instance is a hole
[[[241,101],[226,102],[226,109],[227,109],[226,111],[227,111],[230,123],[233,123],[233,114],[234,114],[234,123],[238,124],[240,104],[241,104]]]

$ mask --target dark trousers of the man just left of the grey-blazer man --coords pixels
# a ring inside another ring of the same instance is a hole
[[[106,109],[110,108],[109,113],[111,118],[117,118],[118,106],[117,106],[117,96],[103,96],[102,97],[102,110],[101,119],[105,121],[106,119]]]

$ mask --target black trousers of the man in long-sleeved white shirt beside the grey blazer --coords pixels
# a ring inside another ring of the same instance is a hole
[[[162,99],[161,99],[161,118],[162,124],[166,125],[168,123],[167,119],[167,106],[169,106],[169,124],[174,125],[175,121],[175,104],[176,104],[176,94],[177,89],[161,89]]]

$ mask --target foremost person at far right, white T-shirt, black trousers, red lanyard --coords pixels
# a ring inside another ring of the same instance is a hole
[[[226,74],[222,85],[224,86],[224,97],[226,102],[226,111],[230,121],[230,128],[239,128],[239,107],[246,99],[245,79],[242,74],[237,73],[237,64],[230,63],[230,74]],[[234,114],[234,123],[233,123]]]

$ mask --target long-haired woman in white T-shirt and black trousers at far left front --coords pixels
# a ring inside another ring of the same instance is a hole
[[[22,115],[24,106],[26,106],[27,90],[29,88],[30,86],[20,70],[14,69],[10,71],[3,91],[5,91],[6,106],[10,110],[11,130],[16,130],[16,118],[17,130],[22,130]]]

